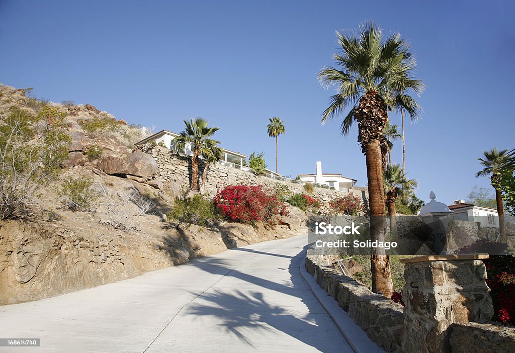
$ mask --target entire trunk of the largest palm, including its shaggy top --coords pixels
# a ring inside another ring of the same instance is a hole
[[[388,144],[383,130],[388,121],[384,100],[377,92],[367,92],[359,101],[354,116],[358,121],[358,142],[367,162],[370,205],[370,240],[386,241],[386,215],[383,170]],[[389,257],[384,248],[372,248],[370,256],[372,291],[391,297],[393,284]]]

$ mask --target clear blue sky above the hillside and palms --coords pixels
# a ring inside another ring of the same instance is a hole
[[[0,0],[0,82],[52,101],[90,103],[117,118],[180,132],[195,115],[223,147],[263,151],[274,168],[268,118],[280,116],[279,171],[342,173],[366,184],[357,130],[320,125],[332,90],[316,79],[338,50],[335,30],[376,21],[400,32],[426,90],[406,125],[406,168],[418,196],[464,199],[476,158],[515,147],[515,6],[508,1],[14,1]],[[400,116],[390,120],[399,123]],[[402,143],[393,149],[402,162]],[[493,189],[492,189],[493,190]]]

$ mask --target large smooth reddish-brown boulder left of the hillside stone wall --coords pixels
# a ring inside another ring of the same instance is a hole
[[[151,155],[134,152],[125,157],[104,156],[97,168],[107,174],[130,174],[146,178],[157,173],[158,164]]]

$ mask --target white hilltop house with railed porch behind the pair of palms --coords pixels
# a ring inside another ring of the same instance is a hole
[[[166,148],[175,149],[173,141],[174,141],[174,138],[177,136],[179,136],[179,134],[176,132],[171,132],[168,130],[161,130],[159,132],[156,132],[153,135],[145,137],[144,139],[142,139],[139,142],[136,142],[136,145],[149,144],[153,141],[153,142],[156,142],[157,144],[162,142]],[[224,159],[218,161],[219,164],[225,164],[225,165],[233,167],[233,168],[250,171],[250,168],[245,167],[243,165],[243,160],[245,160],[248,157],[247,155],[245,155],[243,153],[239,153],[239,152],[234,152],[234,151],[228,150],[226,148],[221,148],[221,149],[222,149],[222,151],[224,151]],[[183,150],[178,151],[178,152],[185,154],[185,155],[189,155],[189,156],[193,155],[192,146],[189,143],[186,144],[186,146]],[[275,175],[276,177],[282,177],[281,174],[276,173],[272,170],[266,169],[266,171],[267,171],[267,173]]]

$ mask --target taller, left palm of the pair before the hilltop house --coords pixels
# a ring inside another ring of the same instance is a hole
[[[183,149],[186,144],[191,144],[193,148],[192,157],[192,182],[190,185],[191,190],[199,190],[198,187],[198,158],[199,151],[205,147],[213,134],[220,130],[220,128],[208,127],[208,120],[201,117],[195,117],[190,121],[184,120],[186,128],[179,136],[174,138],[174,145],[176,148]]]

